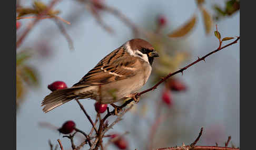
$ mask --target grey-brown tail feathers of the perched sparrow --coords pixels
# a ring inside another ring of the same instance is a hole
[[[67,88],[67,89],[59,89],[53,91],[51,94],[47,95],[42,101],[42,105],[44,106],[43,111],[47,113],[48,111],[53,110],[57,106],[60,106],[66,102],[69,102],[76,98],[76,95],[72,96],[72,93],[77,90],[76,88]]]

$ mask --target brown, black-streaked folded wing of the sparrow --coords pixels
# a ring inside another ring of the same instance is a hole
[[[87,87],[116,82],[135,76],[140,65],[137,57],[129,55],[124,49],[119,48],[103,58],[92,70],[72,88]]]

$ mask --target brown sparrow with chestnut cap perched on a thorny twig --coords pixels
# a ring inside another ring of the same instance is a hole
[[[131,39],[105,56],[71,88],[58,89],[42,101],[46,113],[73,99],[93,99],[112,104],[131,98],[146,83],[152,63],[159,57],[143,39]]]

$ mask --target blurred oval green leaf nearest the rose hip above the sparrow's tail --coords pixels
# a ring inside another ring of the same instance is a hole
[[[38,85],[37,72],[32,67],[24,66],[22,68],[22,78],[28,85]]]

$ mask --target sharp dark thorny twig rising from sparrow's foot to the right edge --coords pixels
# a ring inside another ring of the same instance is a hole
[[[184,70],[186,70],[186,69],[188,69],[189,67],[193,66],[195,63],[198,63],[199,61],[205,60],[206,57],[212,55],[213,53],[215,53],[215,52],[217,52],[217,51],[219,51],[219,50],[221,50],[221,49],[224,49],[224,48],[226,48],[226,47],[228,47],[228,46],[231,46],[231,45],[237,43],[237,41],[238,41],[239,39],[240,39],[240,37],[237,37],[237,39],[236,39],[235,41],[231,42],[230,44],[227,44],[227,45],[225,45],[225,46],[223,46],[223,47],[219,47],[218,49],[216,49],[216,50],[214,50],[214,51],[208,53],[207,55],[203,56],[202,58],[198,58],[198,59],[195,60],[194,62],[190,63],[189,65],[185,66],[184,68],[181,68],[181,69],[178,70],[178,71],[175,71],[175,72],[173,72],[173,73],[169,73],[168,76],[162,78],[162,79],[161,79],[159,82],[157,82],[152,88],[146,89],[146,90],[144,90],[144,91],[138,93],[137,96],[139,97],[140,95],[142,95],[142,94],[144,94],[144,93],[146,93],[146,92],[149,92],[149,91],[152,91],[152,90],[156,89],[158,85],[160,85],[162,82],[164,82],[165,80],[167,80],[167,79],[170,78],[171,76],[174,76],[174,75],[177,74],[177,73],[180,73],[180,72],[181,72],[181,73],[183,74],[183,71],[184,71]]]

